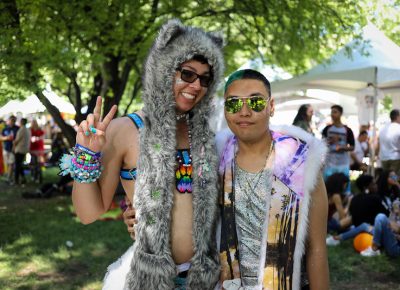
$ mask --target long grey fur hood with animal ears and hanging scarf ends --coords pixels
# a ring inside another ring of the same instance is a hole
[[[170,250],[170,213],[176,168],[176,104],[172,88],[176,69],[194,55],[208,60],[213,81],[190,114],[194,256],[187,289],[213,289],[218,280],[217,155],[208,120],[211,97],[224,70],[222,46],[220,35],[171,20],[160,29],[145,62],[144,127],[134,197],[137,240],[125,289],[174,288],[177,272]]]

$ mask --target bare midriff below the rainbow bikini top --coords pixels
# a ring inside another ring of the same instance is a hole
[[[171,253],[176,264],[189,262],[193,251],[193,197],[174,191],[171,211]]]

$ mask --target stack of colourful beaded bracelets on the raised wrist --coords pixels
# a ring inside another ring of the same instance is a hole
[[[59,175],[71,174],[79,183],[92,183],[99,179],[102,171],[101,152],[76,144],[71,154],[64,154],[60,159]]]

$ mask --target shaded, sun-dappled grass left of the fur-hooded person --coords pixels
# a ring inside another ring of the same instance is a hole
[[[69,196],[25,200],[18,187],[0,196],[0,289],[100,289],[131,244],[122,221],[80,224]]]

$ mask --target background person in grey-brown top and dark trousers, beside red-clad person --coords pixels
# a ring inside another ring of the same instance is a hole
[[[13,152],[15,154],[15,182],[17,184],[25,184],[24,161],[26,153],[29,152],[31,141],[31,132],[26,128],[27,119],[21,119],[21,126],[17,131],[17,135],[13,141]],[[21,178],[21,180],[20,180]]]

